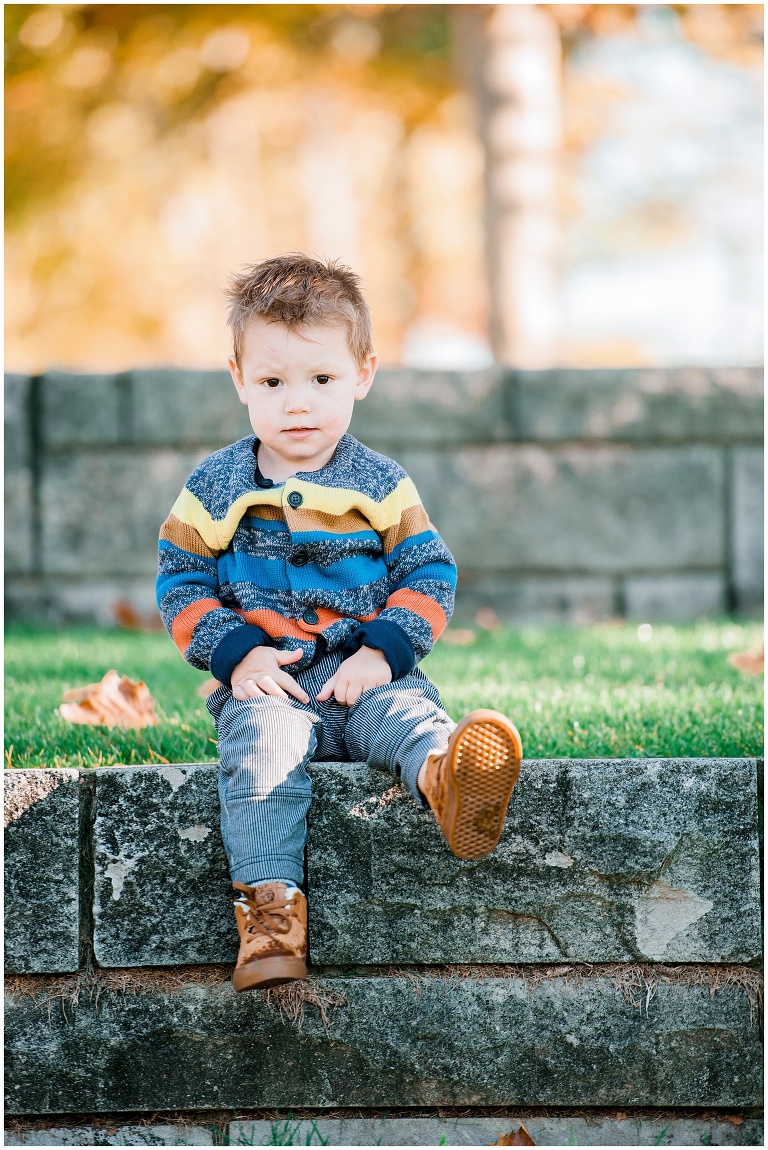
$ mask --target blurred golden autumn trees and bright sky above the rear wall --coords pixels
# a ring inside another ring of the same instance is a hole
[[[7,366],[222,366],[358,269],[384,363],[757,365],[759,5],[7,5]]]

